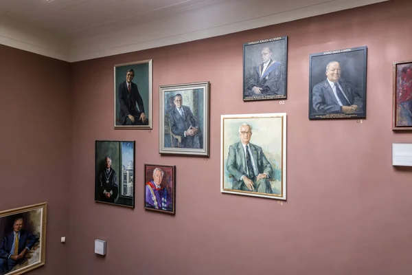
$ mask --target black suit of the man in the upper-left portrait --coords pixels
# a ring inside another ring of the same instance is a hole
[[[132,82],[132,89],[129,93],[127,89],[127,82],[124,81],[119,85],[119,102],[120,102],[120,110],[119,110],[119,122],[120,124],[126,124],[127,116],[133,115],[135,117],[140,116],[141,113],[145,113],[143,100],[139,94],[139,89],[137,89],[137,85]],[[136,102],[137,106],[139,106],[139,111],[136,109]]]

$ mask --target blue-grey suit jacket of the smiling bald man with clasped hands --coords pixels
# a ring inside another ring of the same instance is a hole
[[[349,103],[358,106],[356,113],[363,113],[363,99],[361,95],[354,90],[349,82],[343,79],[339,80],[339,85],[341,85]],[[328,80],[314,85],[312,89],[312,111],[315,114],[343,113]]]

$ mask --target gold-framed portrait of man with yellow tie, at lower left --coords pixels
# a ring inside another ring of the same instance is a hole
[[[0,212],[0,274],[45,265],[47,203]]]

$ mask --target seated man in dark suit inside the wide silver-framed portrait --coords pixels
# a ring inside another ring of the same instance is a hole
[[[193,115],[190,107],[183,105],[183,96],[174,96],[174,108],[169,115],[170,131],[174,138],[173,147],[179,148],[203,148],[203,135],[198,119]]]

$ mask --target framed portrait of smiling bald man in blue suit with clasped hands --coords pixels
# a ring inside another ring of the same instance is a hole
[[[309,119],[366,118],[367,47],[310,55]]]

